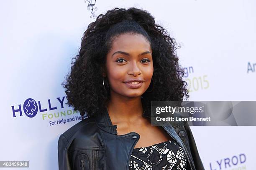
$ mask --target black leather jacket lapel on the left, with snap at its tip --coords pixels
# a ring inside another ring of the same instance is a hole
[[[125,135],[117,135],[117,125],[112,125],[108,110],[95,117],[97,126],[102,130],[101,135],[105,148],[105,165],[107,170],[128,170],[129,158],[140,135],[131,132]],[[134,137],[136,135],[136,138]],[[114,168],[114,169],[113,169]]]

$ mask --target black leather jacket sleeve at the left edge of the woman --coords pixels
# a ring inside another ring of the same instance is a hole
[[[67,139],[60,135],[58,141],[58,163],[59,170],[72,170],[69,163],[69,155],[67,153]]]

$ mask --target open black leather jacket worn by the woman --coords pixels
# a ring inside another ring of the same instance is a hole
[[[145,111],[143,116],[148,117]],[[204,170],[186,122],[161,127],[182,146],[191,170]],[[59,170],[129,170],[131,153],[140,135],[117,135],[116,128],[107,109],[101,116],[88,117],[69,128],[59,137]]]

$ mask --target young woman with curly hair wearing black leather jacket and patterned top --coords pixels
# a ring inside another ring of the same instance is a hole
[[[83,116],[59,137],[60,170],[203,170],[187,124],[151,126],[151,101],[188,98],[175,40],[150,13],[90,23],[63,86]]]

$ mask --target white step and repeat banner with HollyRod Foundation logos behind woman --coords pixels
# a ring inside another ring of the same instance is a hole
[[[79,112],[65,104],[61,82],[87,26],[114,7],[148,10],[177,40],[189,100],[256,100],[254,0],[8,0],[0,4],[0,161],[29,161],[31,170],[58,169],[59,135],[81,121]],[[191,129],[206,170],[255,169],[256,126]]]

